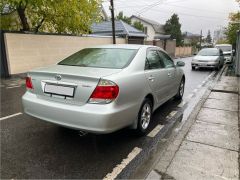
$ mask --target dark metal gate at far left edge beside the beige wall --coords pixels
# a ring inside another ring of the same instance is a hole
[[[1,46],[1,77],[7,78],[9,77],[9,71],[8,71],[8,63],[6,58],[6,49],[5,49],[5,42],[4,42],[4,31],[0,30],[0,46]]]

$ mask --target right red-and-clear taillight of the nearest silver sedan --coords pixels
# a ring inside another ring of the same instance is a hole
[[[93,104],[107,104],[116,99],[118,93],[119,87],[114,82],[100,80],[88,102]]]

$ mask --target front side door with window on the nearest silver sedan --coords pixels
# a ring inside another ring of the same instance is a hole
[[[168,97],[172,97],[176,94],[176,90],[178,89],[179,83],[176,78],[176,66],[171,57],[169,57],[165,52],[159,50],[158,54],[164,63],[164,69],[167,71],[167,95]]]

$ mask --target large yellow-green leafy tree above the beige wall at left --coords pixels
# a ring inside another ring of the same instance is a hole
[[[2,0],[1,29],[88,33],[100,5],[100,0]]]

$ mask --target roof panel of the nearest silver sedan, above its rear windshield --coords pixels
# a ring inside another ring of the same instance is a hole
[[[160,47],[152,46],[152,45],[139,45],[139,44],[107,44],[107,45],[93,46],[93,47],[90,47],[90,48],[140,49],[142,47],[145,47],[145,48],[149,48],[149,47],[160,48]]]

